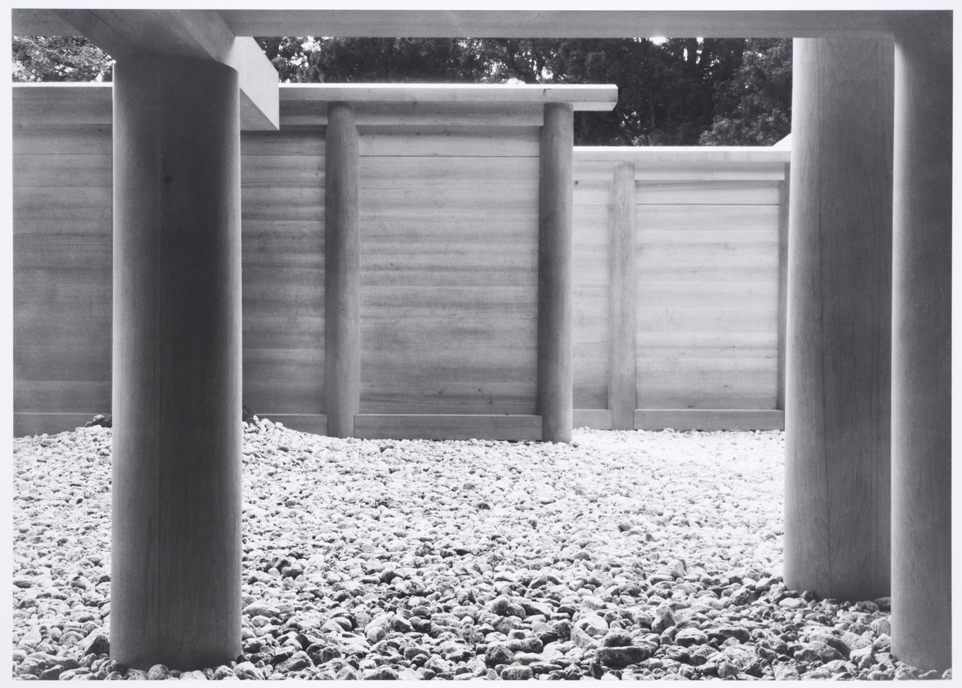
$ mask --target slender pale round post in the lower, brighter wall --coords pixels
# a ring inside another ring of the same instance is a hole
[[[612,430],[635,429],[635,165],[620,162],[612,180],[609,206],[608,254],[611,274],[611,367],[608,376],[608,407]]]

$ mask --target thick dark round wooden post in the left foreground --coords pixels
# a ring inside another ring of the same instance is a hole
[[[114,67],[111,654],[241,652],[241,135],[237,72]]]

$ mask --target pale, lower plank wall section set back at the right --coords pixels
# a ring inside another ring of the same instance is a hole
[[[635,169],[635,427],[780,427],[788,152],[576,148],[574,160],[575,424],[611,427],[606,252],[620,161]]]

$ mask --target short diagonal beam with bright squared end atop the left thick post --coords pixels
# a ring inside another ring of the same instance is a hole
[[[70,33],[116,60],[155,55],[213,60],[238,72],[241,129],[277,130],[277,71],[252,37],[237,37],[210,10],[58,10]]]

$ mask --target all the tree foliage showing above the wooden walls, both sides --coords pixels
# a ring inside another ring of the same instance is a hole
[[[578,145],[769,145],[791,130],[791,39],[257,39],[282,82],[614,84]],[[14,37],[14,81],[109,81],[80,37]]]

